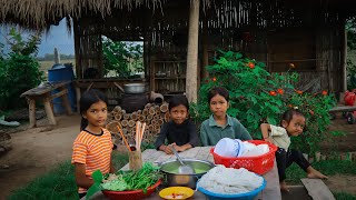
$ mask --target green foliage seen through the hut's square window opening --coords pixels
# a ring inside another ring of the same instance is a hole
[[[144,71],[144,47],[140,43],[102,38],[102,51],[105,74],[115,71],[120,78],[129,78],[132,72]]]

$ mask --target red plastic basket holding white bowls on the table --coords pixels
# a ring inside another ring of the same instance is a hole
[[[273,143],[263,141],[263,140],[248,140],[248,142],[254,144],[266,143],[269,147],[269,152],[257,156],[257,157],[238,157],[238,158],[228,158],[221,157],[214,152],[214,148],[210,149],[210,153],[214,157],[214,162],[216,164],[224,164],[227,168],[245,168],[249,171],[253,171],[258,174],[265,174],[268,172],[275,164],[275,152],[277,147]]]

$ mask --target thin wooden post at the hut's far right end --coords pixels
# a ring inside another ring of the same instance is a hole
[[[342,26],[342,51],[340,51],[340,61],[342,61],[342,90],[345,92],[347,90],[347,69],[346,69],[346,57],[347,57],[347,31],[345,28],[345,19],[343,19]]]

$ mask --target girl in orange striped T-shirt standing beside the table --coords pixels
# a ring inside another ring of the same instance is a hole
[[[99,90],[89,90],[80,99],[81,132],[73,142],[71,158],[79,198],[85,197],[93,184],[93,171],[116,172],[111,162],[111,133],[102,128],[108,116],[107,104],[107,97]]]

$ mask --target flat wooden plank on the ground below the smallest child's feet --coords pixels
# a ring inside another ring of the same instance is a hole
[[[320,179],[300,179],[314,200],[335,200],[333,193]]]

